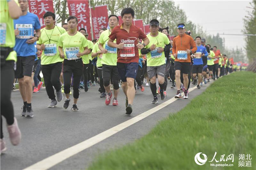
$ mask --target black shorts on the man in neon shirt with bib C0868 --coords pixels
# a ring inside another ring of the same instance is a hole
[[[102,64],[102,78],[103,81],[110,78],[119,79],[118,68],[116,65]]]

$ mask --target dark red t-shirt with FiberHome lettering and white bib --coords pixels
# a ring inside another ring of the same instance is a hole
[[[131,25],[129,33],[123,29],[123,25],[116,26],[109,35],[111,40],[116,39],[116,44],[124,43],[123,49],[117,49],[117,62],[139,63],[139,50],[136,47],[139,39],[147,38],[146,34],[137,26]]]

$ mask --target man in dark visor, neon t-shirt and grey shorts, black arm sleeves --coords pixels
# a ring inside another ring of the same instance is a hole
[[[168,52],[168,58],[169,58],[171,44],[170,44],[170,40],[164,33],[158,32],[159,30],[158,20],[152,19],[149,23],[149,29],[150,29],[150,33],[147,35],[149,44],[146,45],[141,50],[141,54],[147,54],[147,71],[148,71],[148,77],[150,78],[150,89],[154,97],[151,103],[156,104],[158,102],[158,99],[156,97],[156,90],[157,90],[156,75],[157,75],[157,79],[160,86],[161,100],[165,99],[165,94],[164,94],[164,86],[165,86],[164,78],[166,73],[165,51]]]

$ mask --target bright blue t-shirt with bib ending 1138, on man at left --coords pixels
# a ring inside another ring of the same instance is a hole
[[[34,35],[35,30],[41,29],[37,15],[28,12],[27,15],[14,19],[13,23],[14,29],[17,27],[20,30],[20,35],[16,36],[15,47],[13,48],[17,52],[17,56],[35,55],[34,44],[28,44],[26,41],[29,39],[29,36]]]

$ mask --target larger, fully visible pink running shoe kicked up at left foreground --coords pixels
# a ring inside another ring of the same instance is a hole
[[[8,125],[7,129],[8,129],[8,132],[9,132],[9,137],[10,137],[11,143],[13,145],[19,144],[20,139],[21,139],[21,133],[20,133],[20,129],[19,129],[19,126],[18,126],[18,122],[17,122],[15,117],[14,117],[13,124]]]

